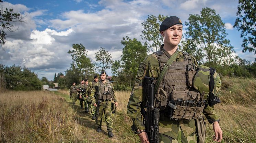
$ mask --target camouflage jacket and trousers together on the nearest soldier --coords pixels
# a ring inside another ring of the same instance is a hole
[[[160,51],[164,53],[164,55],[168,58],[171,57],[169,53],[167,53],[163,49],[163,45],[160,48]],[[178,55],[174,62],[182,63],[184,62],[185,57],[182,52],[178,52]],[[191,61],[194,65],[197,65],[197,61],[194,57],[191,57]],[[146,107],[146,96],[142,93],[142,83],[144,76],[154,77],[154,84],[156,79],[160,74],[161,68],[159,65],[159,60],[155,54],[148,55],[140,64],[139,70],[135,79],[135,83],[133,85],[133,89],[131,91],[131,96],[127,105],[127,113],[128,116],[132,118],[133,125],[132,130],[137,131],[145,129],[142,123],[142,115],[141,115],[141,104],[143,107]],[[184,75],[185,76],[185,75]],[[186,77],[186,76],[185,76]],[[181,79],[184,77],[176,77],[175,79]],[[175,80],[174,80],[175,81]],[[163,81],[164,82],[164,81]],[[168,83],[164,83],[168,84]],[[164,86],[164,85],[163,85]],[[175,85],[179,86],[179,85]],[[163,111],[162,114],[165,114]],[[209,105],[203,109],[203,114],[205,114],[209,123],[213,123],[217,121],[219,117],[214,112],[214,108]],[[161,115],[162,116],[162,115]],[[171,120],[164,115],[164,119],[160,119],[159,121],[159,133],[160,133],[160,141],[161,142],[182,142],[182,143],[190,143],[197,141],[197,135],[195,133],[196,125],[195,119],[191,120]]]

